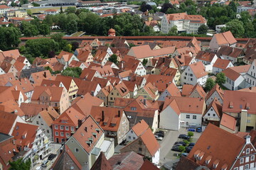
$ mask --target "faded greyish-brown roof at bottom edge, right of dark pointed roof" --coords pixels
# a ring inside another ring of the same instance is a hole
[[[115,169],[139,169],[144,163],[142,155],[135,152],[123,152],[121,154],[115,154],[108,159],[112,168]]]

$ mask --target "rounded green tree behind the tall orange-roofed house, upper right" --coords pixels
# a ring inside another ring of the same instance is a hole
[[[226,24],[225,27],[221,29],[223,32],[230,30],[234,37],[239,38],[245,34],[245,28],[243,27],[242,21],[234,19]]]

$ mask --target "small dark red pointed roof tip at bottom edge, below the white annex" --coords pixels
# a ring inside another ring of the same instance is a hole
[[[100,152],[100,156],[97,157],[90,170],[112,170],[112,166],[110,165],[110,162],[107,161],[105,154]]]

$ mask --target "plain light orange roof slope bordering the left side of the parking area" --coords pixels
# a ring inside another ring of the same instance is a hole
[[[144,132],[140,138],[142,139],[142,142],[144,142],[144,145],[146,146],[146,149],[148,149],[149,153],[153,157],[154,154],[156,154],[157,150],[160,149],[160,145],[156,140],[156,137],[154,137],[153,132],[150,128]]]

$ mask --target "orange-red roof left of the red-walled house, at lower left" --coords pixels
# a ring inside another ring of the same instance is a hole
[[[37,125],[17,122],[12,135],[16,140],[16,145],[31,148],[36,138]]]

